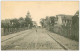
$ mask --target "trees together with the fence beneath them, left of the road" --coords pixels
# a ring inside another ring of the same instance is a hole
[[[1,35],[8,35],[10,33],[15,33],[21,30],[29,29],[33,27],[33,21],[28,12],[26,17],[5,19],[1,20]]]

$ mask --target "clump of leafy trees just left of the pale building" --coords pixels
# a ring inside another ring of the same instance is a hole
[[[41,23],[42,27],[45,27],[48,30],[52,30],[54,27],[54,23],[55,23],[54,19],[55,19],[54,16],[51,16],[51,17],[46,16],[45,19],[43,19],[43,18],[40,19],[40,23]]]

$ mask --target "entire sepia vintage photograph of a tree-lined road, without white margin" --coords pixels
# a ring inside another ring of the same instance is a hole
[[[1,50],[79,50],[79,1],[1,1]]]

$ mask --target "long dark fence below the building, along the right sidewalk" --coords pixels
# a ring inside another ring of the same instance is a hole
[[[71,27],[54,27],[51,31],[64,37],[79,41],[79,32],[76,31],[76,29],[74,30],[75,32],[73,32]]]

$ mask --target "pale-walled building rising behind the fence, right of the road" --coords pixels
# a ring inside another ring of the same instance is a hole
[[[64,14],[59,14],[59,15],[56,15],[56,23],[58,25],[64,25],[66,26],[67,24],[70,24],[72,23],[72,15],[64,15]]]

